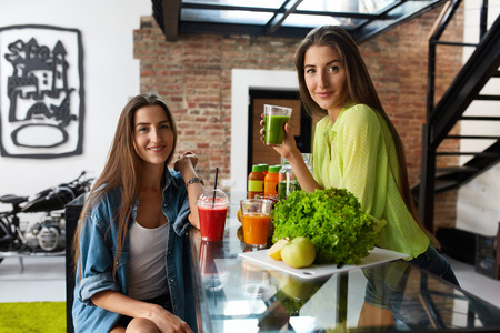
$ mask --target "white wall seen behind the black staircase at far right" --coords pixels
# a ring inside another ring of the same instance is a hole
[[[464,41],[479,41],[479,13],[482,0],[467,0]],[[500,13],[500,0],[489,0],[488,28]],[[466,48],[463,62],[474,51]],[[499,94],[500,78],[491,79],[481,91],[482,94]],[[500,114],[500,102],[474,101],[466,111],[467,115]],[[500,122],[494,121],[462,121],[462,135],[499,135]],[[494,140],[462,140],[461,151],[480,151],[491,145]],[[478,142],[479,141],[479,142]],[[471,157],[463,157],[460,163],[466,163]],[[461,186],[457,200],[457,228],[483,235],[496,235],[500,221],[500,164]]]

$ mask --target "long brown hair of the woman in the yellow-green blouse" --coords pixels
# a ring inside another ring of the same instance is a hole
[[[391,169],[393,175],[399,175],[398,189],[407,205],[408,211],[411,213],[416,222],[419,224],[420,229],[431,239],[434,246],[439,246],[436,238],[427,231],[419,220],[417,209],[414,206],[413,196],[410,190],[410,183],[408,181],[408,170],[407,161],[404,157],[404,147],[401,138],[398,134],[393,123],[383,110],[382,103],[380,102],[379,95],[377,94],[376,88],[368,72],[367,65],[361,57],[361,53],[351,36],[340,27],[336,26],[324,26],[311,30],[302,42],[299,44],[294,54],[294,64],[297,68],[297,73],[299,75],[299,92],[306,109],[311,114],[328,114],[327,110],[321,109],[318,103],[314,102],[309,90],[306,85],[304,77],[304,57],[307,50],[311,46],[319,47],[331,47],[333,48],[341,58],[342,64],[346,69],[346,85],[350,99],[354,103],[362,103],[370,107],[377,115],[382,118],[389,130],[391,132],[391,139],[396,145],[396,152],[398,155],[398,167],[399,170],[394,172]],[[389,152],[389,141],[386,138],[386,144],[388,145]],[[389,163],[391,165],[391,163]]]

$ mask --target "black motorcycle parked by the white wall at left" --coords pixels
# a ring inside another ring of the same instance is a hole
[[[7,194],[0,202],[12,210],[0,212],[0,262],[7,256],[63,255],[66,248],[64,205],[90,191],[93,179],[86,171],[73,181],[43,190],[32,198]],[[41,213],[39,220],[21,220],[18,214]]]

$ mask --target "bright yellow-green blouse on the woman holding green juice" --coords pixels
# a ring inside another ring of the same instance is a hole
[[[389,127],[371,108],[350,101],[334,124],[328,115],[318,122],[313,171],[323,189],[347,189],[366,213],[386,223],[379,246],[407,253],[410,259],[426,252],[430,240],[397,186],[398,158]]]

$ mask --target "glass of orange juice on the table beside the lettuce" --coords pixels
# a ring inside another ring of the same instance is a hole
[[[240,201],[243,239],[247,245],[258,249],[266,248],[272,203],[268,199],[244,199]]]

